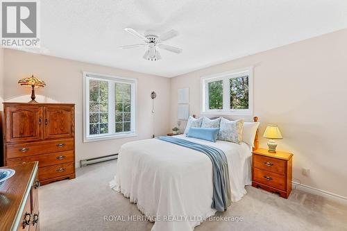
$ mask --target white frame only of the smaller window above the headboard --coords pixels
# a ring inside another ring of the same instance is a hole
[[[248,75],[248,109],[230,109],[230,78]],[[208,83],[223,80],[223,109],[210,109],[208,105]],[[235,69],[220,74],[201,77],[201,114],[253,115],[253,67]]]

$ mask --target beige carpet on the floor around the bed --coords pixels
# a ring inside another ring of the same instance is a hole
[[[40,227],[46,230],[151,230],[148,221],[104,221],[104,216],[142,214],[128,198],[109,189],[117,161],[77,170],[77,178],[44,185],[39,190]],[[216,216],[242,216],[243,221],[205,221],[203,230],[347,230],[347,205],[294,190],[285,200],[261,189]]]

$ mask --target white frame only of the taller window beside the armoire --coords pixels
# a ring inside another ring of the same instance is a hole
[[[108,133],[90,135],[90,80],[108,81]],[[115,132],[115,84],[128,83],[131,85],[131,121],[129,132]],[[113,83],[113,84],[110,84]],[[117,139],[137,136],[137,79],[96,74],[83,71],[83,142],[95,142],[106,139]]]

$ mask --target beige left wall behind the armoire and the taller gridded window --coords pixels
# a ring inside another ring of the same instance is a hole
[[[29,101],[31,89],[19,86],[17,81],[33,74],[46,82],[46,87],[37,89],[38,101],[76,103],[76,162],[118,153],[121,144],[135,139],[150,138],[153,134],[152,90],[158,95],[155,99],[155,108],[158,109],[155,112],[156,134],[163,135],[169,130],[169,78],[10,49],[4,50],[4,57],[5,101]],[[137,137],[83,143],[83,71],[137,78]]]

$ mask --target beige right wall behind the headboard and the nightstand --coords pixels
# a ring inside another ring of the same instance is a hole
[[[171,127],[178,88],[189,87],[190,113],[200,114],[200,77],[248,66],[260,134],[278,124],[278,149],[294,153],[294,181],[347,197],[347,29],[171,78]]]

